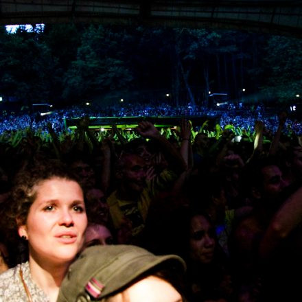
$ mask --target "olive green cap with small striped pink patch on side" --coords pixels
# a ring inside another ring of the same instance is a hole
[[[163,262],[185,271],[185,262],[176,255],[156,256],[130,245],[91,246],[69,267],[57,302],[100,301]]]

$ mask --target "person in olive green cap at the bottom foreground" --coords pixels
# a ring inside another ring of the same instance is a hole
[[[182,302],[185,262],[138,246],[91,246],[69,267],[57,302]]]

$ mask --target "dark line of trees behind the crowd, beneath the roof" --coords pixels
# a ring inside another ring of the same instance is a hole
[[[248,32],[70,23],[10,34],[1,27],[0,93],[25,104],[117,91],[169,91],[176,105],[207,104],[209,91],[285,102],[302,94],[301,55],[301,40]]]

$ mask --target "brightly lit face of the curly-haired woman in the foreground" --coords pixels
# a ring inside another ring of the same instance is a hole
[[[36,199],[19,235],[27,237],[30,259],[60,264],[70,262],[84,242],[87,217],[78,183],[51,178],[36,185]]]

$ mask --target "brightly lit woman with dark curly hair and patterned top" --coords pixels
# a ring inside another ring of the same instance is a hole
[[[5,216],[7,233],[21,238],[28,257],[0,275],[0,300],[56,301],[84,242],[87,218],[78,181],[62,163],[29,163],[16,175]]]

